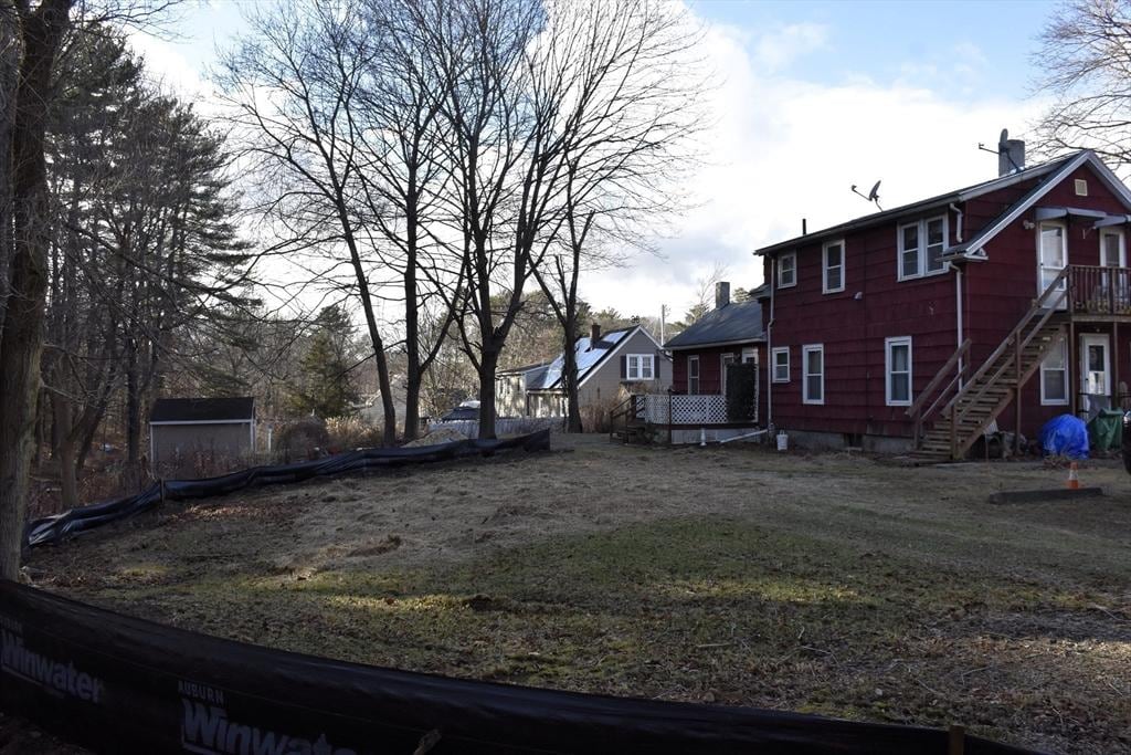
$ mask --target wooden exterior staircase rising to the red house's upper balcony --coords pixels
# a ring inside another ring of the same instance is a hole
[[[969,372],[967,338],[907,409],[915,421],[913,455],[958,461],[1011,403],[1020,413],[1020,391],[1064,337],[1068,312],[1065,268],[1034,302],[1017,327]]]

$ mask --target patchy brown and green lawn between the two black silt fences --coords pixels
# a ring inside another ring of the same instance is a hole
[[[1131,478],[650,449],[258,491],[35,554],[178,626],[448,675],[1131,747]]]

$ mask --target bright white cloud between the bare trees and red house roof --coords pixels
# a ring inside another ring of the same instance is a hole
[[[817,32],[796,32],[813,44]],[[658,315],[662,303],[680,315],[697,277],[715,261],[727,265],[732,285],[761,282],[759,247],[872,212],[849,187],[866,191],[882,180],[884,207],[976,183],[996,174],[992,155],[1002,128],[1024,138],[1042,103],[995,97],[982,91],[956,101],[932,87],[935,70],[893,83],[840,71],[839,84],[800,80],[780,71],[787,58],[765,37],[750,41],[726,27],[708,28],[705,49],[725,74],[710,96],[714,121],[703,135],[707,166],[693,181],[696,207],[661,240],[665,259],[640,258],[631,268],[584,278],[582,297],[598,308]],[[770,51],[770,52],[768,52]],[[984,62],[965,49],[958,63]],[[768,66],[777,61],[778,67]],[[952,70],[952,69],[951,69]],[[948,89],[952,91],[952,89]]]

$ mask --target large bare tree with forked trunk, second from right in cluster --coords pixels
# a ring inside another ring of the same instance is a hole
[[[451,81],[440,113],[467,282],[457,324],[480,376],[480,435],[494,437],[499,355],[527,284],[564,238],[567,208],[575,231],[613,217],[612,197],[646,196],[649,173],[693,128],[679,106],[688,91],[672,84],[685,81],[676,67],[691,37],[674,33],[671,6],[647,0],[435,6],[421,24],[430,65]],[[564,266],[561,277],[570,298]]]

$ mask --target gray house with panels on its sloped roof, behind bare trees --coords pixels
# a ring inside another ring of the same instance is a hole
[[[585,409],[610,409],[622,387],[663,393],[672,384],[672,359],[639,325],[602,334],[594,325],[576,344],[578,401]],[[564,359],[499,372],[500,417],[564,417]]]

